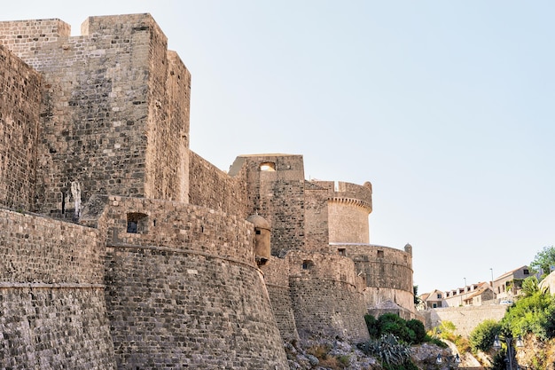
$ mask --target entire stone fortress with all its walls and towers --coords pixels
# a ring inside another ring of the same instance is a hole
[[[412,309],[411,251],[367,244],[370,183],[307,181],[294,154],[216,169],[190,89],[149,14],[0,22],[0,367],[285,369],[282,340]]]

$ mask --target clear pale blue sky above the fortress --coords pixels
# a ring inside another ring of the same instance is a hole
[[[555,3],[2,1],[0,20],[149,12],[192,73],[191,148],[302,154],[373,185],[371,242],[413,247],[418,292],[555,244]]]

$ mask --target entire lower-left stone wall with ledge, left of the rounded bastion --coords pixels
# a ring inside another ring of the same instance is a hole
[[[0,209],[0,368],[115,368],[97,230]]]

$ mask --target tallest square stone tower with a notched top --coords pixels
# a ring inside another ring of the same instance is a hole
[[[44,80],[35,210],[78,218],[95,193],[186,201],[191,75],[166,36],[147,14],[69,33],[60,20],[0,22],[0,43]]]

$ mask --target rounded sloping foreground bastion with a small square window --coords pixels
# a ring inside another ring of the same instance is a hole
[[[253,224],[173,201],[113,196],[98,212],[101,204],[118,368],[288,368]]]

